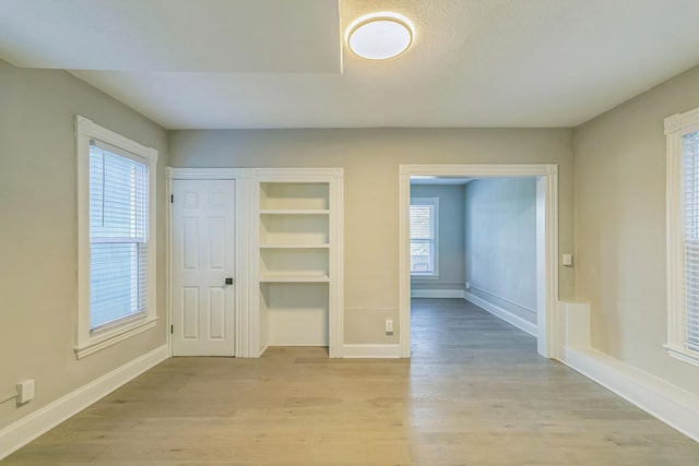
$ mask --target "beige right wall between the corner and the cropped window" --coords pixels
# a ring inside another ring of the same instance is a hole
[[[699,394],[699,368],[667,356],[663,120],[699,107],[699,68],[574,131],[577,299],[594,348]],[[566,248],[561,247],[561,251]]]

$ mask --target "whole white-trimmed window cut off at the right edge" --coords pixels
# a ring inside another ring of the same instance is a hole
[[[699,109],[665,119],[667,345],[699,366]]]

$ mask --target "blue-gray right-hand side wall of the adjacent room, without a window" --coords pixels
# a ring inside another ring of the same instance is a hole
[[[470,292],[536,324],[536,179],[473,180],[465,212]]]

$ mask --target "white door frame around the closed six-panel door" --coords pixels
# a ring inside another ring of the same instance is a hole
[[[236,357],[249,357],[249,340],[250,340],[250,315],[248,302],[248,280],[249,274],[245,271],[244,264],[248,259],[250,235],[246,235],[246,225],[250,222],[246,218],[246,215],[250,215],[250,210],[245,208],[246,200],[251,199],[251,183],[248,181],[247,170],[240,168],[165,168],[166,177],[166,266],[165,266],[165,302],[167,320],[165,326],[165,334],[167,340],[167,348],[169,356],[173,357],[173,337],[170,334],[170,325],[173,325],[173,203],[167,202],[171,200],[173,195],[173,182],[175,180],[234,180],[235,183],[235,225],[234,225],[234,250],[235,250],[235,264],[234,264],[234,348],[233,356]]]

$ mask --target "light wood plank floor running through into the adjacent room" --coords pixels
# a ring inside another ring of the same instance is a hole
[[[463,300],[413,307],[413,359],[175,358],[3,465],[699,465],[699,444]]]

